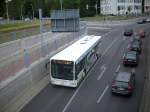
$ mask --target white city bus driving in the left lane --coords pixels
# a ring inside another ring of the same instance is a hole
[[[77,87],[100,56],[101,36],[84,36],[50,58],[54,85]]]

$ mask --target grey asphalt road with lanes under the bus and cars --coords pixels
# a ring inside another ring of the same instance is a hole
[[[102,57],[96,62],[88,76],[78,88],[66,88],[49,84],[21,112],[137,112],[144,86],[146,72],[146,38],[143,39],[142,54],[136,71],[136,88],[131,97],[111,94],[111,82],[117,70],[131,71],[122,65],[122,56],[130,37],[122,36],[126,27],[135,31],[150,24],[118,26],[105,32],[102,38]],[[90,29],[89,29],[90,30]],[[89,34],[102,35],[90,30]]]

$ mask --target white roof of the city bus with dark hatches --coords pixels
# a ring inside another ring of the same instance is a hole
[[[51,57],[51,60],[79,61],[100,41],[100,38],[101,36],[84,36],[80,40]]]

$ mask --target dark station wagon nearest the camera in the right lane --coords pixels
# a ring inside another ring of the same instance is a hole
[[[112,93],[132,95],[135,86],[135,73],[118,72],[111,86]]]

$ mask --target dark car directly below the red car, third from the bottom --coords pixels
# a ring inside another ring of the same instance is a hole
[[[141,51],[142,51],[141,44],[140,44],[140,42],[138,42],[138,41],[132,41],[132,42],[130,42],[130,44],[129,44],[129,46],[128,46],[128,49],[131,50],[131,51],[136,51],[136,52],[138,52],[139,54],[140,54]]]

